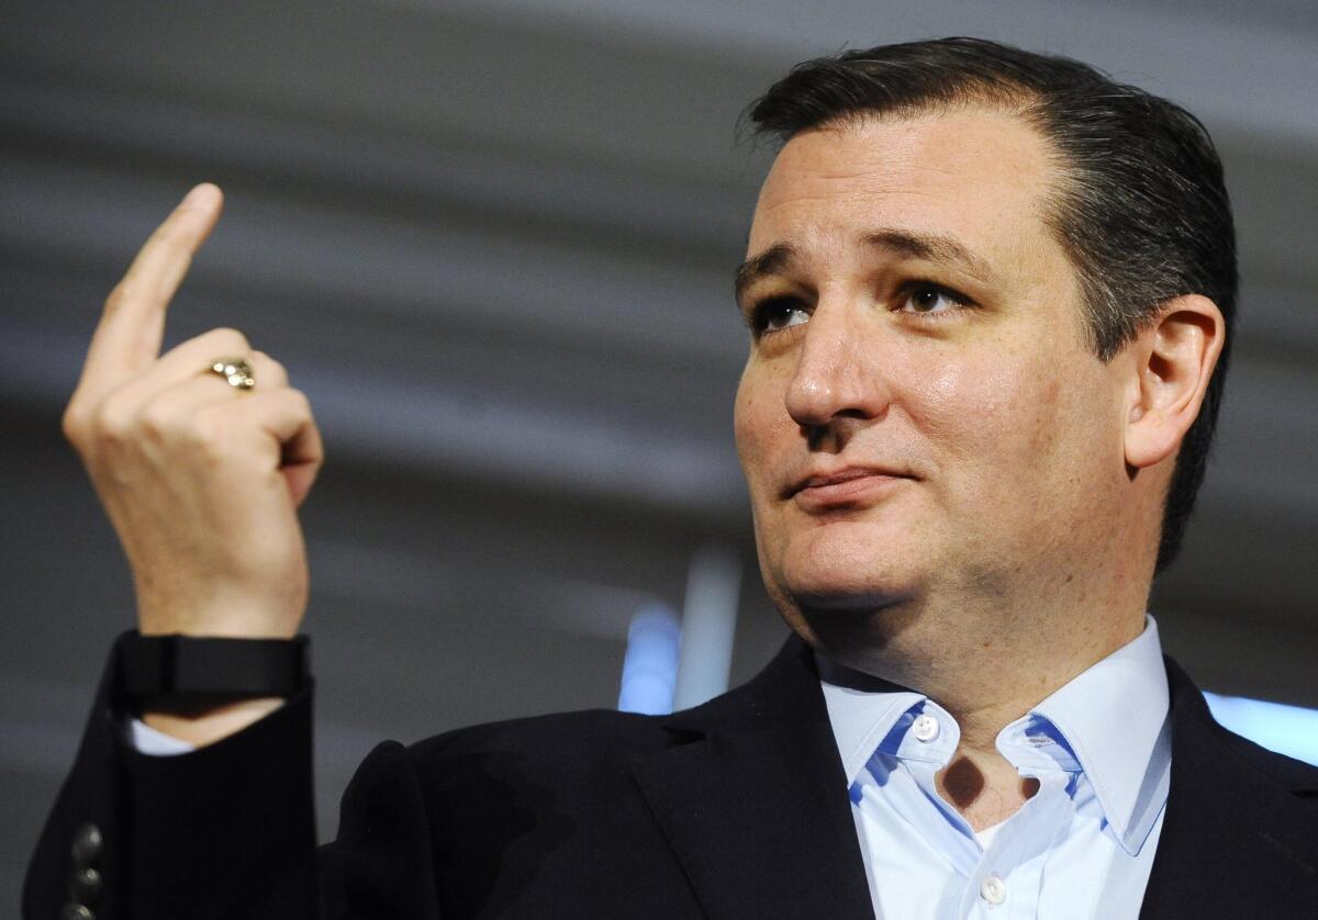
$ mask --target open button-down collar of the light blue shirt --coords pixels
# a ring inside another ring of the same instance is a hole
[[[847,786],[923,693],[816,655]],[[1058,688],[999,734],[1043,717],[1074,753],[1122,846],[1137,853],[1166,801],[1170,763],[1168,685],[1157,623]]]

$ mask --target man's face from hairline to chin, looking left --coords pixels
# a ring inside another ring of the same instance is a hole
[[[1044,224],[1053,178],[1039,134],[985,111],[812,130],[774,163],[735,430],[799,631],[1048,592],[1111,530],[1123,382]]]

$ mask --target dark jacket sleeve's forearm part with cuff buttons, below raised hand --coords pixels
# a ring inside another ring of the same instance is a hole
[[[311,681],[243,732],[161,758],[124,737],[117,676],[112,655],[28,867],[22,916],[318,917]]]

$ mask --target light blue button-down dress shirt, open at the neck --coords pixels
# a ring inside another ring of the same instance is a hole
[[[998,734],[999,753],[1039,791],[979,834],[934,788],[957,750],[956,720],[917,692],[820,666],[879,920],[1139,915],[1170,770],[1152,617]]]

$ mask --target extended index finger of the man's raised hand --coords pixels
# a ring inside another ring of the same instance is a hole
[[[79,389],[105,391],[156,360],[165,336],[165,310],[192,254],[219,220],[223,203],[219,187],[204,182],[150,235],[105,301]]]

